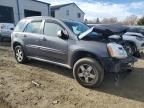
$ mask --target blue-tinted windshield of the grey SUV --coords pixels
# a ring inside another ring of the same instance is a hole
[[[81,33],[87,31],[90,29],[87,25],[81,23],[81,22],[68,22],[64,21],[64,23],[69,27],[70,30],[77,36],[79,36]]]

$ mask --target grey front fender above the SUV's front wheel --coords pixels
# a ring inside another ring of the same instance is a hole
[[[79,54],[80,53],[80,54]],[[99,60],[101,58],[110,57],[108,50],[107,50],[107,44],[101,43],[101,42],[90,42],[90,41],[78,41],[75,44],[72,44],[69,47],[69,59],[68,64],[73,65],[73,61],[75,58],[79,58],[76,56],[82,56],[85,57],[87,55],[90,55],[92,57],[95,57]]]

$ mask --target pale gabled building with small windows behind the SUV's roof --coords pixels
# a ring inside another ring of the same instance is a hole
[[[51,16],[55,18],[83,21],[84,15],[75,3],[51,6]]]

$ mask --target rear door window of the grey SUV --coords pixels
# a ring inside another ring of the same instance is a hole
[[[39,33],[41,22],[31,22],[27,25],[25,32],[28,33]]]

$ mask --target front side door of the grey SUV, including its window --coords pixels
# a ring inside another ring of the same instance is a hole
[[[43,59],[53,62],[66,63],[68,53],[68,39],[57,36],[59,30],[65,30],[63,26],[55,21],[45,21],[43,36],[41,37],[41,53]]]

